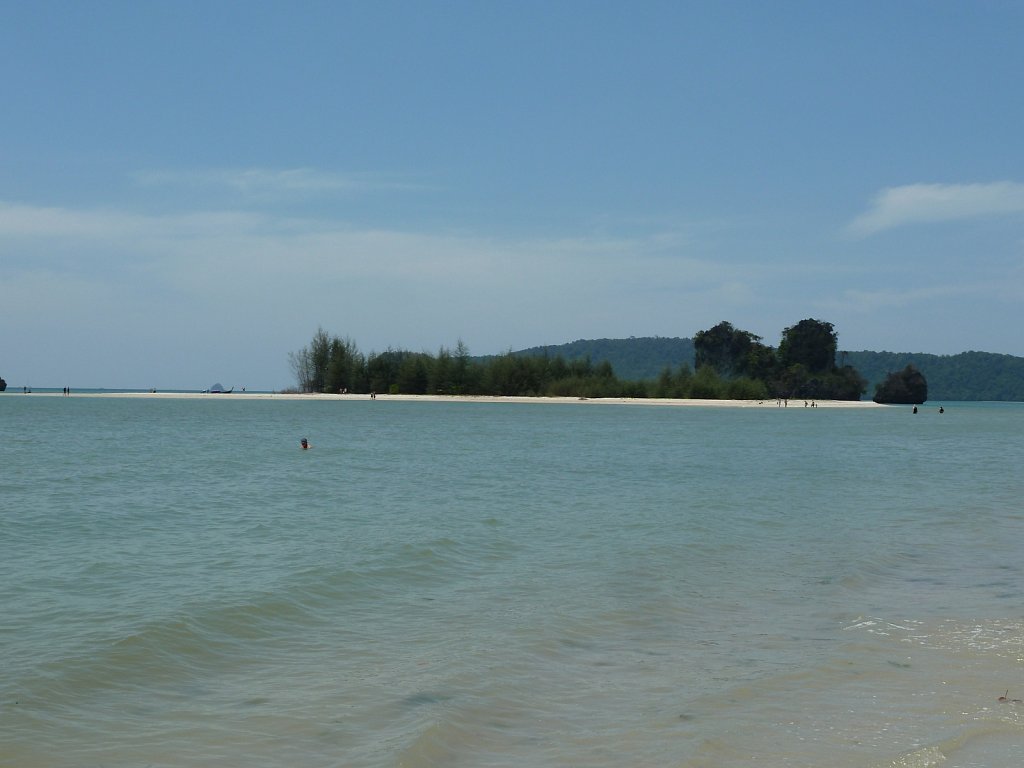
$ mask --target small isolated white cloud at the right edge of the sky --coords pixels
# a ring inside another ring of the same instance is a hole
[[[905,224],[1024,213],[1024,184],[907,184],[883,189],[847,231],[868,237]]]

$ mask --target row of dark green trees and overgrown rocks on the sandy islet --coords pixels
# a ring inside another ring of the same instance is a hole
[[[785,329],[777,349],[729,323],[697,333],[693,347],[692,367],[683,361],[655,378],[626,381],[610,362],[594,364],[589,355],[508,351],[475,358],[461,340],[436,354],[391,348],[364,354],[351,339],[321,328],[289,361],[300,392],[855,400],[866,388],[852,367],[836,364],[838,335],[822,321]]]

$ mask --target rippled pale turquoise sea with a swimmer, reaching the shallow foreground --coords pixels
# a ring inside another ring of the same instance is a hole
[[[1024,403],[942,404],[7,392],[0,766],[1019,766]]]

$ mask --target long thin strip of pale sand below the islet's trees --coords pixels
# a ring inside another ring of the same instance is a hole
[[[11,392],[22,395],[22,392]],[[30,392],[23,396],[62,397],[61,392]],[[316,394],[297,392],[75,392],[71,397],[106,397],[126,399],[214,399],[214,400],[370,400],[369,394]],[[674,406],[702,408],[780,408],[779,400],[707,400],[659,397],[524,397],[500,395],[446,395],[446,394],[378,394],[375,402],[486,402],[486,403],[556,403],[556,404],[612,404],[612,406]],[[885,408],[872,400],[806,400],[816,408]],[[803,408],[805,400],[791,399],[788,408]]]

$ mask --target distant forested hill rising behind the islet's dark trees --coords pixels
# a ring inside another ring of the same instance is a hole
[[[626,381],[655,379],[668,366],[693,367],[693,340],[663,337],[630,339],[580,339],[567,344],[522,349],[515,354],[561,356],[566,360],[590,357],[597,365],[607,360]],[[928,380],[928,399],[1024,401],[1024,357],[992,352],[952,355],[923,352],[840,352],[839,365],[853,366],[867,382],[866,398],[889,373],[910,365]]]

